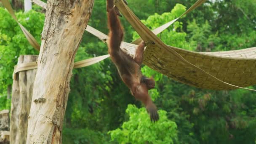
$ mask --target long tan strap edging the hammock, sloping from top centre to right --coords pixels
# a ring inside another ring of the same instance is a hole
[[[204,0],[198,0],[200,2],[203,2]],[[115,0],[115,5],[117,6],[117,8],[120,10],[120,12],[123,14],[123,16],[125,16],[125,19],[127,19],[129,21],[129,23],[131,24],[131,26],[136,30],[136,32],[140,35],[140,37],[142,38],[142,40],[144,40],[144,42],[152,42],[155,45],[157,45],[160,48],[165,49],[166,51],[172,53],[174,56],[176,56],[177,59],[180,59],[181,61],[184,61],[184,63],[189,64],[191,67],[197,69],[198,71],[209,75],[210,77],[212,77],[213,79],[216,79],[218,81],[220,81],[221,83],[227,84],[227,85],[231,85],[234,86],[236,88],[243,88],[243,87],[239,87],[236,85],[232,85],[229,83],[226,83],[222,80],[219,80],[217,77],[214,77],[213,75],[209,74],[208,72],[205,72],[203,69],[200,69],[199,67],[195,66],[194,64],[191,64],[189,61],[187,61],[186,59],[184,59],[179,53],[177,53],[176,51],[174,51],[171,47],[168,47],[167,45],[165,45],[160,38],[158,38],[153,32],[151,32],[144,24],[141,23],[141,21],[134,15],[134,13],[130,10],[130,8],[123,2],[123,0]],[[256,91],[250,88],[243,88],[243,89],[247,89],[247,90],[251,90],[251,91]]]

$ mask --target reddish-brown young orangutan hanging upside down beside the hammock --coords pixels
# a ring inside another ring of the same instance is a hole
[[[117,8],[114,8],[113,0],[107,0],[107,12],[110,31],[108,44],[110,58],[117,67],[121,79],[130,88],[132,95],[146,106],[150,119],[157,121],[159,119],[157,107],[148,94],[148,90],[155,87],[155,81],[152,77],[145,77],[141,73],[145,44],[143,42],[138,46],[134,59],[124,53],[120,49],[123,40],[123,27],[117,18],[119,12]]]

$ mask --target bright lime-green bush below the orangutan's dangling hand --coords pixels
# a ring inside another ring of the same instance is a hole
[[[174,144],[177,142],[177,125],[166,117],[164,110],[159,110],[160,119],[152,123],[145,108],[138,109],[129,104],[126,112],[130,119],[124,122],[122,129],[109,131],[112,140],[119,143],[144,144]]]

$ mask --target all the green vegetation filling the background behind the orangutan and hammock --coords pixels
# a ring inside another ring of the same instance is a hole
[[[177,18],[196,0],[128,0],[150,29]],[[12,0],[20,23],[40,43],[45,10],[33,5],[23,13],[23,0]],[[45,0],[46,2],[46,0]],[[105,0],[95,0],[89,25],[108,33]],[[209,0],[175,22],[159,37],[191,51],[228,51],[256,46],[255,0]],[[138,35],[124,18],[126,42]],[[11,107],[13,66],[19,55],[38,54],[0,3],[0,110]],[[107,45],[88,32],[75,61],[107,54]],[[151,123],[146,110],[120,80],[110,59],[74,69],[64,119],[64,144],[255,144],[256,93],[243,89],[211,91],[176,82],[147,66],[156,80],[150,90],[160,109]],[[256,86],[251,86],[256,89]]]

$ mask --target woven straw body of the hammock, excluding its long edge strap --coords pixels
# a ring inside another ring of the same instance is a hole
[[[218,79],[246,87],[256,84],[256,47],[238,51],[196,53],[174,49],[187,61]],[[248,53],[249,52],[249,53]],[[144,63],[168,77],[198,88],[214,90],[234,89],[191,68],[161,48],[149,46],[145,50]]]

